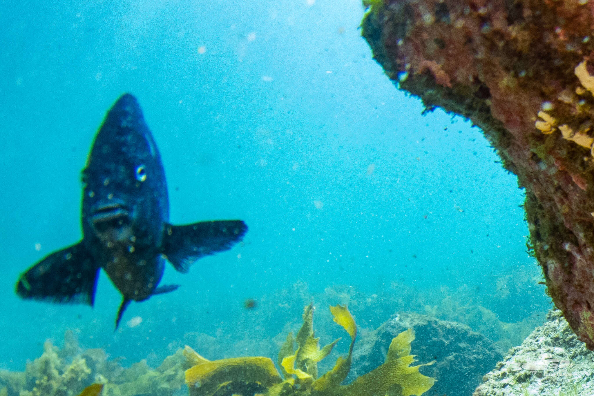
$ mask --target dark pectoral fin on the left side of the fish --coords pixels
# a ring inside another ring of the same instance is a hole
[[[93,305],[99,266],[82,242],[53,252],[18,278],[23,299]]]

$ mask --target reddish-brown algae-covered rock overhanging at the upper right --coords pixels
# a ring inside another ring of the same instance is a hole
[[[594,349],[594,1],[365,5],[388,77],[472,120],[518,176],[548,294]]]

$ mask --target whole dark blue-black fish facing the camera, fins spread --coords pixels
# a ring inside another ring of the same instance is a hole
[[[134,301],[171,292],[159,286],[165,260],[187,273],[198,258],[230,249],[245,235],[241,220],[172,226],[165,172],[134,96],[113,104],[83,170],[83,240],[54,252],[17,282],[24,299],[93,305],[99,269],[122,293],[115,322]]]

